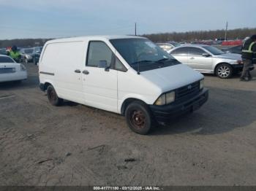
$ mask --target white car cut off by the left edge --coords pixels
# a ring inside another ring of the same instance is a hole
[[[7,55],[0,55],[0,82],[27,79],[26,67]]]

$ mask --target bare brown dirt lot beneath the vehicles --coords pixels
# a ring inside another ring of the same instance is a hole
[[[50,106],[27,67],[0,85],[1,185],[256,185],[256,79],[208,75],[206,105],[140,136],[117,114]]]

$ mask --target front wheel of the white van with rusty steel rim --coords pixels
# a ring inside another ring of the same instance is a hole
[[[154,120],[146,104],[134,101],[124,112],[129,128],[140,135],[146,135],[153,128]]]

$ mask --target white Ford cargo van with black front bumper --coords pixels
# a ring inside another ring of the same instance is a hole
[[[208,100],[203,75],[146,38],[84,36],[46,42],[39,59],[40,88],[50,104],[65,100],[126,117],[146,134],[193,112]]]

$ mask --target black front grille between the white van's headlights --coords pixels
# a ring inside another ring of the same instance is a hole
[[[200,91],[200,82],[194,82],[189,85],[185,85],[184,87],[180,87],[175,91],[176,101],[185,98],[189,95],[194,95]]]

